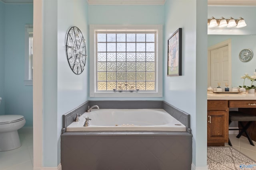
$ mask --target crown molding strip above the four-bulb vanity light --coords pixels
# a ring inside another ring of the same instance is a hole
[[[256,0],[208,0],[208,5],[256,6]]]

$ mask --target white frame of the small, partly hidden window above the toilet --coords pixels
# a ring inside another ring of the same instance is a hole
[[[33,36],[33,25],[26,24],[25,25],[25,76],[24,76],[24,85],[25,86],[32,86],[33,85],[33,78],[32,78],[32,56],[30,55],[30,43],[29,38]]]

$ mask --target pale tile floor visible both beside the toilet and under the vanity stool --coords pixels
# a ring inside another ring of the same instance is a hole
[[[0,170],[33,170],[33,133],[19,134],[20,148],[0,152]],[[238,139],[235,134],[230,134],[229,138],[236,150],[256,161],[256,146],[250,145],[246,137]],[[225,146],[229,146],[228,143]]]

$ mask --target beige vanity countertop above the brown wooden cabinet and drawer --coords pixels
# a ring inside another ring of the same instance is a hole
[[[256,100],[256,93],[219,94],[207,92],[207,100]]]

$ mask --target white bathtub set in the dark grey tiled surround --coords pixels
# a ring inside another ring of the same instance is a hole
[[[89,126],[84,127],[89,117]],[[72,122],[66,131],[186,131],[180,121],[164,109],[92,109]]]

